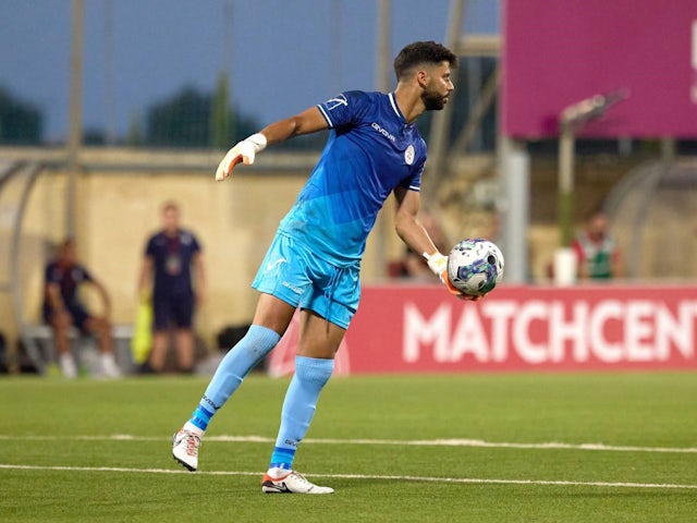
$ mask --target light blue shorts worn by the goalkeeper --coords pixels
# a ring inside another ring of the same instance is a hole
[[[252,287],[308,308],[344,329],[360,300],[359,268],[338,267],[284,233],[277,233]]]

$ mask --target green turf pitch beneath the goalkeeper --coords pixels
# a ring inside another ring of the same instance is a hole
[[[262,495],[260,474],[272,442],[215,438],[273,438],[288,380],[248,378],[213,421],[200,473],[184,473],[171,460],[169,438],[206,384],[0,379],[0,464],[12,465],[0,469],[0,521],[697,520],[697,374],[333,378],[295,462],[310,479],[337,490],[319,497]],[[398,445],[444,439],[648,450]],[[82,469],[56,469],[61,466]],[[635,485],[583,485],[597,482]],[[655,486],[637,486],[647,484]]]

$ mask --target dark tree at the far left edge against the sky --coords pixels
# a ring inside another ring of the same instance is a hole
[[[0,86],[0,143],[39,144],[42,121],[41,112],[36,107],[15,98]]]

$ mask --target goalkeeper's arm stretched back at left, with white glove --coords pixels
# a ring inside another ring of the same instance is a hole
[[[327,121],[317,107],[310,107],[299,114],[279,120],[267,125],[261,131],[237,143],[228,151],[216,171],[216,180],[221,181],[232,174],[237,163],[249,166],[254,163],[257,153],[262,151],[267,145],[277,144],[301,134],[316,133],[329,129]]]

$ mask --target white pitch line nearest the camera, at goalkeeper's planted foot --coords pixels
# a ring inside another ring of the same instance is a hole
[[[15,471],[52,471],[52,472],[117,472],[117,473],[139,473],[139,474],[191,474],[183,470],[169,469],[126,469],[120,466],[63,466],[63,465],[12,465],[0,463],[0,470]],[[261,476],[261,472],[246,471],[209,471],[196,472],[197,475],[208,476]],[[311,474],[313,477],[326,477],[334,479],[382,479],[402,482],[426,482],[426,483],[452,483],[470,485],[547,485],[563,487],[608,487],[608,488],[658,488],[658,489],[690,489],[697,490],[697,485],[677,485],[661,483],[628,483],[628,482],[571,482],[571,481],[548,481],[548,479],[493,479],[479,477],[436,477],[436,476],[395,476],[377,474]]]

